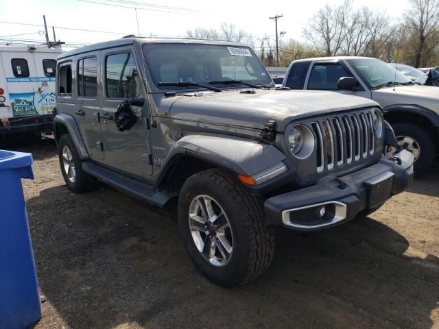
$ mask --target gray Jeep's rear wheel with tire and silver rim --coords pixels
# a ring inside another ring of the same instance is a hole
[[[82,161],[69,134],[62,135],[58,141],[58,158],[62,177],[70,191],[81,193],[95,186],[96,178],[82,171]]]

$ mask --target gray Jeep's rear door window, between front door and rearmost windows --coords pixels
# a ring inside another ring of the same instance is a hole
[[[78,60],[78,96],[96,97],[97,58],[88,57]]]

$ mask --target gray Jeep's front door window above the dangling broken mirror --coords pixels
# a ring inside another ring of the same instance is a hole
[[[105,89],[108,98],[137,98],[140,94],[139,71],[132,53],[106,57]]]

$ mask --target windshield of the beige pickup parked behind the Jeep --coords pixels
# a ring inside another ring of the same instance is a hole
[[[361,75],[370,88],[379,88],[393,83],[413,83],[410,77],[406,77],[381,60],[349,60],[349,63],[355,68],[355,71]]]

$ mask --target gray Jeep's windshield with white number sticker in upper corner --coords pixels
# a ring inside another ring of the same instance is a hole
[[[248,47],[182,43],[145,43],[146,64],[154,84],[165,90],[243,87],[246,82],[270,85],[272,80],[261,61]],[[238,80],[237,82],[221,82]],[[191,82],[195,84],[179,84]],[[175,85],[174,85],[175,83]],[[248,88],[248,86],[245,86]]]

